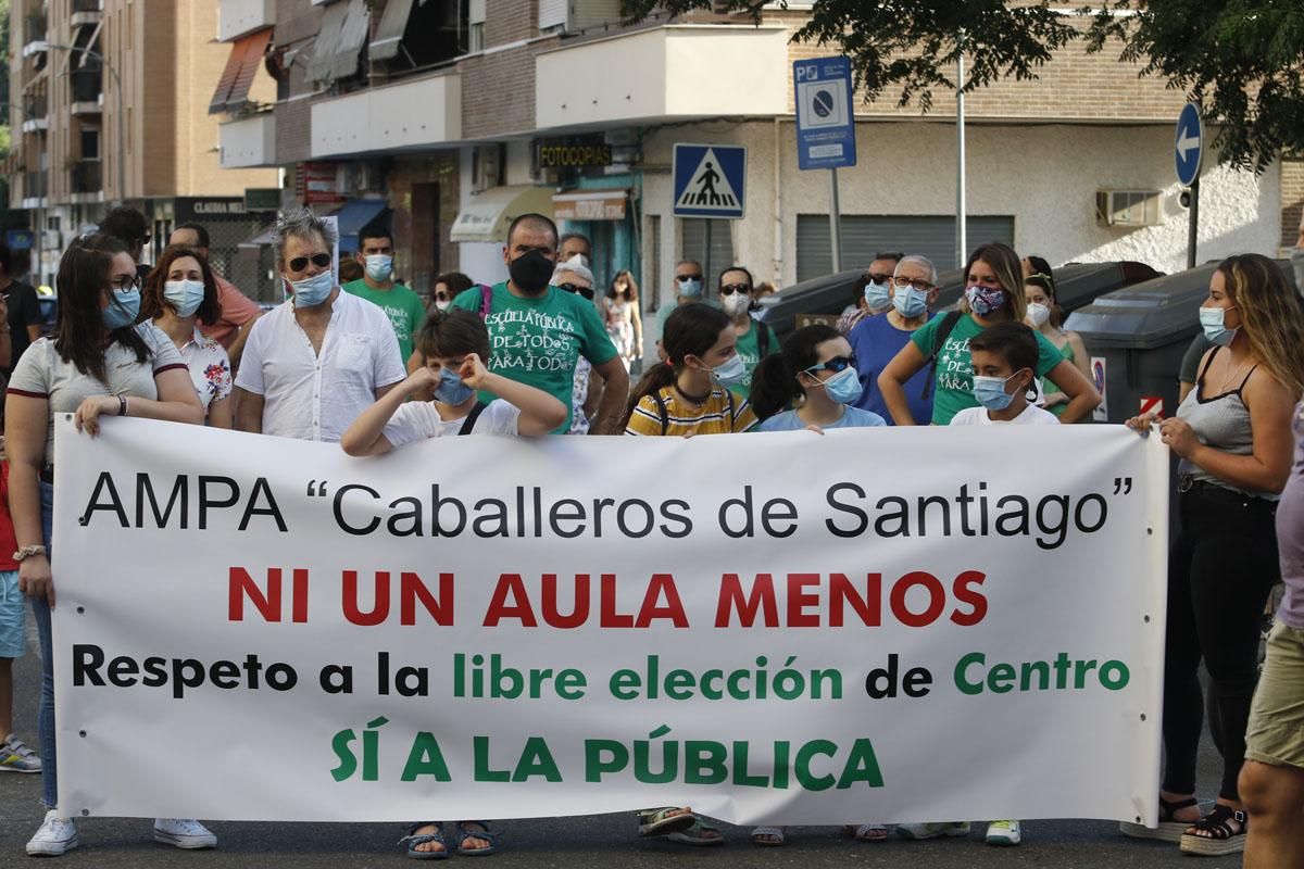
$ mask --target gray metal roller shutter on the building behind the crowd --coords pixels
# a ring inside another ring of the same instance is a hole
[[[1015,244],[1015,218],[969,218],[970,248],[988,241]],[[797,280],[833,271],[827,214],[797,215]],[[842,215],[842,267],[868,266],[878,251],[901,251],[927,257],[938,271],[958,268],[955,216]]]

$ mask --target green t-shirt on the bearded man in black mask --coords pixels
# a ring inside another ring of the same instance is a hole
[[[459,293],[452,307],[480,313],[479,287]],[[554,434],[570,430],[571,390],[579,357],[593,365],[615,358],[593,302],[578,293],[549,287],[539,298],[512,296],[507,284],[493,288],[489,315],[490,371],[556,396],[566,405],[566,422]]]

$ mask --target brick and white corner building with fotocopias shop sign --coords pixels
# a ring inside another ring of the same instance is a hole
[[[715,13],[625,26],[619,0],[220,0],[232,52],[250,27],[266,31],[278,86],[273,111],[223,124],[223,165],[283,168],[283,202],[338,210],[346,235],[391,221],[419,291],[454,268],[502,279],[506,224],[529,210],[589,235],[599,279],[632,270],[645,304],[666,297],[681,258],[788,285],[832,267],[828,176],[797,167],[792,64],[833,53],[792,42],[810,5],[767,8],[759,26]],[[1184,266],[1183,98],[1137,72],[1074,46],[1039,81],[968,99],[971,245]],[[953,99],[921,115],[895,96],[855,102],[842,264],[906,248],[952,266]],[[673,216],[678,142],[748,149],[742,219]],[[1304,164],[1256,177],[1213,163],[1201,259],[1294,238]]]

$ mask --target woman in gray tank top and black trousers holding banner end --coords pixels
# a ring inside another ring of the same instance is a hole
[[[1236,778],[1258,679],[1260,616],[1281,578],[1275,513],[1291,473],[1291,414],[1304,392],[1304,314],[1277,263],[1244,254],[1214,271],[1200,323],[1214,347],[1176,416],[1158,425],[1181,460],[1181,530],[1168,556],[1159,826],[1123,831],[1223,855],[1245,843]],[[1151,414],[1128,421],[1141,434],[1154,423]],[[1223,756],[1218,800],[1205,817],[1194,795],[1201,661]]]

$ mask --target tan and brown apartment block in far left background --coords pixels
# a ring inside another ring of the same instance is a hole
[[[13,0],[9,207],[31,212],[34,281],[52,285],[68,242],[117,202],[150,220],[147,255],[200,220],[219,270],[257,279],[235,267],[237,242],[263,221],[244,194],[279,186],[279,173],[219,165],[216,23],[205,0]]]

